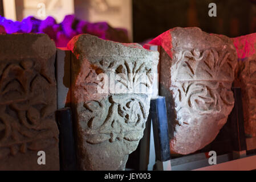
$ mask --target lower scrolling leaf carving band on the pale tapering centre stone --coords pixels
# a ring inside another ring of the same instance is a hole
[[[87,115],[92,113],[90,117],[87,118],[87,122],[100,123],[97,127],[88,126],[88,129],[84,130],[87,136],[87,142],[97,144],[108,139],[109,142],[115,142],[121,139],[131,141],[139,140],[143,135],[144,123],[148,115],[145,110],[145,104],[147,103],[143,102],[143,98],[147,98],[147,96],[129,96],[128,98],[117,95],[109,96],[111,105],[109,106],[108,114],[105,114],[104,117],[99,115],[100,112],[92,110],[92,107],[87,105]],[[96,101],[94,101],[94,103],[95,102]],[[101,104],[97,105],[102,106],[100,108],[101,111],[107,110],[107,105],[102,105],[103,101],[100,103]],[[130,133],[132,133],[133,130],[136,130],[135,134],[138,136],[137,138],[132,138],[133,134]]]

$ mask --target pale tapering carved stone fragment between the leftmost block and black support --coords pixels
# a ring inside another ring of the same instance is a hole
[[[159,52],[88,34],[68,48],[80,168],[123,170],[143,137]]]

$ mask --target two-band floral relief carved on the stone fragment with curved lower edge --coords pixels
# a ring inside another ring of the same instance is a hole
[[[228,75],[233,69],[229,62],[233,60],[229,59],[228,52],[218,52],[214,48],[204,51],[193,49],[181,51],[177,57],[177,62],[173,65],[176,74],[173,74],[173,82],[170,86],[170,90],[174,93],[177,113],[185,111],[187,115],[194,112],[210,114],[221,112],[222,104],[233,106],[233,92],[230,90],[232,77]],[[227,64],[229,70],[226,78],[223,79],[220,78],[220,71],[224,64]],[[200,69],[200,72],[197,69]],[[180,70],[185,72],[184,77],[179,75]],[[178,114],[178,117],[182,118],[181,115]]]

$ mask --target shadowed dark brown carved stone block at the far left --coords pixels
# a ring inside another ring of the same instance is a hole
[[[0,40],[0,170],[59,170],[55,44],[44,34]]]

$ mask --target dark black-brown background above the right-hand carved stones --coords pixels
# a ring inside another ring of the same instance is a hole
[[[209,3],[217,17],[210,17]],[[255,0],[133,0],[133,42],[155,38],[173,27],[200,27],[229,37],[256,32]]]

